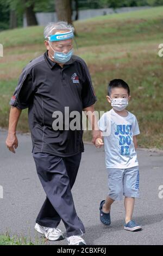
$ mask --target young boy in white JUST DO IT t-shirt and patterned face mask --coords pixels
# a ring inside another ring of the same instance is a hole
[[[121,79],[112,80],[106,96],[112,109],[104,113],[98,121],[103,140],[96,139],[96,147],[105,147],[105,161],[108,170],[109,196],[99,206],[100,220],[110,225],[110,208],[115,200],[122,200],[126,218],[124,229],[141,230],[141,225],[132,220],[135,198],[139,197],[139,163],[136,155],[136,135],[140,133],[134,114],[126,110],[130,100],[130,90]]]

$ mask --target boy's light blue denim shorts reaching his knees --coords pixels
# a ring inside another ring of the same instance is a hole
[[[139,166],[127,169],[107,168],[109,197],[122,200],[125,197],[139,198]]]

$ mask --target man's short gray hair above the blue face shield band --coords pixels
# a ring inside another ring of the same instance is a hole
[[[74,33],[74,27],[71,24],[68,24],[66,21],[58,21],[49,22],[43,31],[43,36],[47,39],[49,35],[55,34],[58,30],[67,30]]]

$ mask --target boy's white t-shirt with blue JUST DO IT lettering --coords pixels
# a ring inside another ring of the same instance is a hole
[[[139,125],[134,114],[121,117],[114,109],[104,113],[98,121],[103,131],[106,168],[126,169],[138,166],[133,136],[138,135]]]

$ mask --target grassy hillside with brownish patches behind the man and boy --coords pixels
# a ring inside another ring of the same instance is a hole
[[[127,81],[131,90],[128,110],[139,121],[139,146],[163,149],[163,7],[126,14],[112,14],[74,22],[78,36],[76,54],[89,66],[98,97],[96,110],[107,111],[108,82]],[[45,51],[43,27],[28,27],[0,33],[4,57],[0,57],[0,126],[7,127],[9,99],[22,68]],[[28,131],[27,111],[18,130]],[[90,139],[86,132],[85,139]]]

